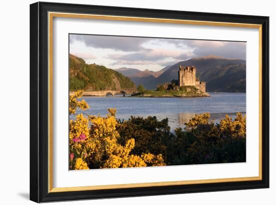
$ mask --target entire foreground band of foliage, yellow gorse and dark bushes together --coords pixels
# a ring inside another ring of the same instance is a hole
[[[78,100],[81,93],[70,96],[70,114],[88,108]],[[167,118],[131,116],[121,122],[109,108],[105,117],[78,114],[70,120],[69,143],[70,169],[244,162],[246,120],[237,113],[215,124],[203,113],[172,133]]]

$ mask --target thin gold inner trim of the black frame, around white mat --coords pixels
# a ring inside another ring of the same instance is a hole
[[[201,26],[223,26],[223,27],[242,27],[257,28],[259,33],[259,174],[253,177],[238,178],[216,178],[216,179],[200,179],[200,180],[183,180],[183,181],[161,181],[149,183],[129,183],[129,184],[112,184],[112,185],[94,185],[94,186],[75,186],[75,187],[53,187],[53,19],[59,18],[79,18],[93,20],[110,20],[110,21],[129,21],[129,22],[148,22],[148,23],[168,23],[168,24],[186,24]],[[208,22],[208,21],[192,21],[162,18],[142,18],[142,17],[125,17],[125,16],[108,16],[108,15],[89,15],[74,13],[48,13],[48,108],[49,108],[49,136],[48,136],[48,191],[64,192],[64,191],[84,191],[84,190],[102,190],[114,188],[133,188],[133,187],[150,187],[150,186],[168,186],[168,185],[184,185],[184,184],[202,184],[202,183],[219,183],[219,182],[235,182],[235,181],[253,181],[262,179],[262,26],[258,24],[242,24],[229,22]]]

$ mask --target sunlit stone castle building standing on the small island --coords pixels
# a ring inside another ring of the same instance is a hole
[[[200,82],[196,77],[196,67],[195,66],[179,66],[178,71],[178,83],[180,86],[195,86],[197,89],[201,90],[203,93],[206,92],[206,83]]]

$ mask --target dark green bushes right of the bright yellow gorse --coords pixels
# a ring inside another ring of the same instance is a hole
[[[117,125],[119,143],[135,139],[131,154],[162,153],[167,165],[204,164],[245,161],[245,117],[237,113],[235,120],[225,116],[218,124],[210,114],[196,115],[186,129],[170,132],[168,119],[131,117]]]

